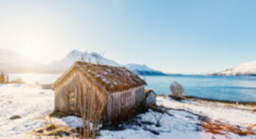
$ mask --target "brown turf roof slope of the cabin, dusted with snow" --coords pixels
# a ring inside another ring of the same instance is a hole
[[[89,64],[82,61],[77,61],[76,64],[78,64],[78,67],[83,72],[87,72],[98,84],[101,84],[109,92],[121,91],[146,84],[138,75],[130,72],[125,67]]]

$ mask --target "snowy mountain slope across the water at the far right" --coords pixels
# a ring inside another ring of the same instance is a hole
[[[256,61],[240,64],[237,67],[217,72],[214,75],[256,75]]]

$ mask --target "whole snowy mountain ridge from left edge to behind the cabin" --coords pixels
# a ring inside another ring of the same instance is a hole
[[[73,50],[69,52],[63,59],[60,61],[52,61],[50,64],[41,64],[36,61],[31,61],[28,58],[14,52],[12,50],[0,49],[0,71],[4,72],[38,72],[38,73],[61,73],[66,69],[72,66],[75,61],[81,61],[81,58],[84,61],[92,62],[93,64],[105,64],[110,66],[123,66],[127,69],[135,72],[138,75],[165,75],[163,72],[160,72],[155,69],[151,69],[146,65],[140,64],[127,64],[121,65],[115,61],[112,61],[108,58],[104,58],[99,55],[97,52],[81,52],[78,50]]]

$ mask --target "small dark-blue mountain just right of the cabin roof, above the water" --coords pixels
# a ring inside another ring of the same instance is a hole
[[[151,69],[144,64],[127,64],[125,67],[138,75],[166,75],[163,72]]]

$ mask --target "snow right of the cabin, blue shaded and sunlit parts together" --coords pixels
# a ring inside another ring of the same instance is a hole
[[[221,131],[223,135],[206,132],[201,126],[203,119],[209,121],[223,121],[232,126],[255,126],[256,112],[247,110],[232,109],[226,106],[212,106],[198,104],[193,101],[174,101],[169,98],[158,97],[157,105],[164,106],[168,115],[161,121],[161,126],[155,126],[155,119],[150,112],[138,115],[138,122],[154,124],[144,126],[127,125],[123,131],[101,131],[101,138],[255,138],[255,136],[240,136],[232,132]],[[170,109],[168,109],[170,108]],[[246,106],[240,106],[246,109]],[[252,109],[251,109],[252,110]],[[152,132],[159,133],[155,135]],[[254,129],[256,132],[256,129]]]

